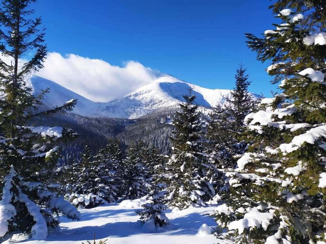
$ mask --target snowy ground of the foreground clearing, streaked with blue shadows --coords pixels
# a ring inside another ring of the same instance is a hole
[[[119,204],[108,204],[94,209],[80,210],[82,220],[79,222],[61,218],[60,228],[50,230],[45,241],[22,240],[23,236],[15,235],[3,243],[81,244],[86,240],[92,240],[94,232],[96,232],[96,239],[108,239],[107,244],[225,243],[216,239],[214,235],[197,236],[202,224],[216,226],[216,222],[208,216],[215,208],[216,205],[177,212],[167,210],[166,215],[170,219],[169,228],[153,232],[137,223],[139,220],[139,216],[135,214],[137,208],[131,208],[130,205],[123,207]]]

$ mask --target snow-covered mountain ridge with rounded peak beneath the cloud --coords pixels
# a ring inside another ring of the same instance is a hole
[[[158,109],[174,107],[184,101],[182,95],[187,93],[190,86],[197,95],[197,104],[201,106],[214,107],[218,103],[223,105],[225,99],[231,97],[230,90],[202,88],[171,75],[162,75],[155,82],[109,102],[93,102],[36,75],[31,76],[27,84],[33,87],[35,95],[41,90],[51,88],[43,101],[47,107],[59,106],[70,99],[78,99],[73,113],[88,117],[139,118]],[[258,97],[256,94],[253,96]]]

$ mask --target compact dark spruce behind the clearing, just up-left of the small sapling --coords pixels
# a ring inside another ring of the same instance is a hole
[[[139,150],[131,147],[127,156],[122,160],[121,190],[122,199],[137,199],[147,195],[146,172]]]

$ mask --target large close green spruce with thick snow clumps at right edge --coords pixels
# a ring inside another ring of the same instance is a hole
[[[280,83],[244,119],[251,145],[229,176],[217,223],[236,243],[325,243],[326,2],[279,0],[280,23],[248,46]],[[289,9],[291,8],[291,9]]]

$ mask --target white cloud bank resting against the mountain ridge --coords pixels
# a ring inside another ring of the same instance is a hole
[[[160,72],[136,61],[128,61],[124,67],[119,67],[99,59],[52,52],[36,75],[92,101],[106,102],[153,82]]]

